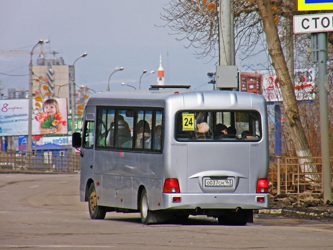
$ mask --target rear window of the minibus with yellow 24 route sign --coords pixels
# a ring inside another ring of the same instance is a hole
[[[181,111],[176,114],[177,141],[259,141],[260,114],[256,111]]]

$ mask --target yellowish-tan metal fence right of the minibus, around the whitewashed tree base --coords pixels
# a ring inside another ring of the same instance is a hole
[[[332,179],[333,157],[330,162]],[[321,175],[321,157],[271,156],[268,182],[271,182],[271,189],[277,194],[322,194]]]

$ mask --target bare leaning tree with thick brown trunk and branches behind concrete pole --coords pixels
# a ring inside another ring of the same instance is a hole
[[[283,124],[286,129],[285,148],[290,154],[296,154],[300,157],[312,157],[301,122],[302,115],[306,114],[299,111],[292,81],[294,79],[292,76],[293,69],[291,69],[294,64],[292,61],[294,46],[292,43],[287,44],[290,39],[299,37],[292,35],[290,29],[290,20],[292,20],[294,15],[299,14],[294,1],[234,0],[233,6],[237,54],[243,55],[241,57],[245,58],[255,54],[255,51],[259,53],[260,50],[256,46],[263,44],[264,48],[262,50],[267,48],[271,57],[283,98],[281,110],[286,119]],[[218,15],[216,10],[208,10],[203,5],[203,2],[199,0],[170,1],[164,7],[164,10],[166,14],[162,14],[162,19],[167,22],[166,25],[174,31],[173,34],[178,35],[177,40],[189,41],[189,44],[185,46],[186,48],[193,46],[198,49],[196,50],[197,58],[209,56],[211,57],[210,60],[212,60],[218,56],[218,53],[215,52],[218,49]],[[285,22],[281,22],[281,20],[285,20]],[[286,25],[284,26],[284,24]],[[279,34],[279,29],[283,30],[282,33],[287,36]],[[286,55],[283,53],[281,38],[285,38],[285,47],[289,48]],[[301,41],[303,48],[304,44],[308,43],[304,38],[299,41]],[[333,43],[333,36],[329,36],[329,41]],[[289,68],[287,61],[289,61]],[[308,125],[308,123],[306,124]],[[313,138],[312,136],[318,136],[317,130],[314,131],[313,128],[309,127],[307,129],[313,131],[313,133],[307,133],[309,139]],[[317,151],[314,153],[317,153]],[[311,171],[311,169],[307,170]]]

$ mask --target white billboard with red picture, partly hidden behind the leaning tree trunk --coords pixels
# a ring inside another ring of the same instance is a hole
[[[313,100],[315,97],[314,69],[295,69],[294,74],[296,100]],[[239,91],[262,94],[268,102],[282,101],[275,70],[241,71]]]

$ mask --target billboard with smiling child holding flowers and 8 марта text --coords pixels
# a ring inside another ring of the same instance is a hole
[[[32,134],[68,134],[66,98],[33,100]],[[28,135],[29,100],[0,100],[0,136]]]

